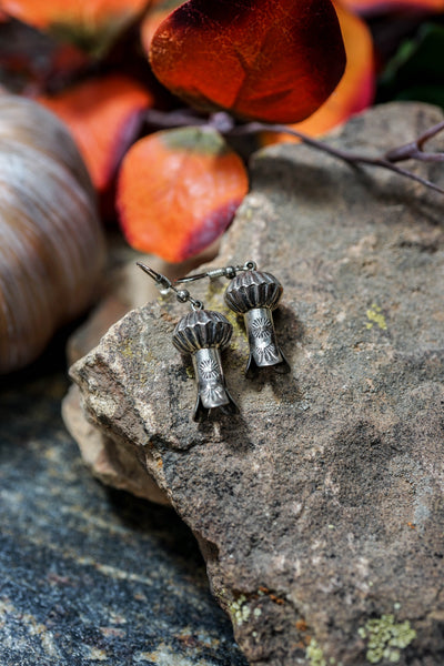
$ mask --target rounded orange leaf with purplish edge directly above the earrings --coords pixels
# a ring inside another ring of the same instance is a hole
[[[129,150],[118,211],[130,245],[179,262],[212,243],[248,192],[241,159],[212,129],[155,132]]]

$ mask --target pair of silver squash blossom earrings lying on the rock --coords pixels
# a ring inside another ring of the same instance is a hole
[[[162,293],[174,292],[181,303],[190,303],[191,312],[178,322],[173,332],[173,344],[182,354],[190,354],[198,382],[198,398],[193,412],[194,421],[203,421],[215,407],[225,413],[239,408],[230,395],[223,375],[221,350],[226,347],[233,333],[229,320],[213,310],[205,310],[201,301],[194,300],[181,285],[204,278],[228,278],[225,303],[236,314],[242,314],[249,336],[250,356],[245,369],[252,376],[260,367],[274,366],[278,372],[290,371],[278,344],[272,311],[278,307],[283,286],[271,273],[258,271],[253,261],[242,266],[224,266],[205,273],[181,278],[172,283],[165,275],[138,262],[154,280]]]

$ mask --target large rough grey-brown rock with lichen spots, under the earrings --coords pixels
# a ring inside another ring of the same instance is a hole
[[[380,107],[331,142],[381,152],[440,120]],[[442,164],[412,168],[444,185]],[[223,361],[241,414],[193,423],[171,343],[186,310],[163,297],[113,325],[72,377],[88,417],[191,526],[251,664],[442,666],[443,198],[301,145],[259,153],[252,172],[214,265],[253,259],[282,282],[292,374],[245,380],[232,317]],[[194,294],[231,316],[225,286]]]

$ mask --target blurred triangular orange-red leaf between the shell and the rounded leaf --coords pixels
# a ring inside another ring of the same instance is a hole
[[[90,79],[39,101],[70,128],[92,182],[104,191],[152,104],[148,90],[128,77]]]

